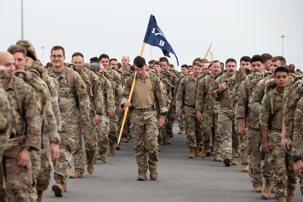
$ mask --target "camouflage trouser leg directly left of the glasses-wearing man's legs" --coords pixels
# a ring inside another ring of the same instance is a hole
[[[54,166],[52,158],[49,157],[49,149],[41,150],[41,169],[37,178],[37,191],[45,191],[49,187]]]

